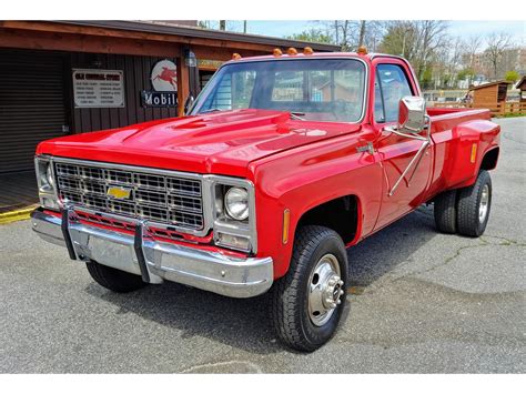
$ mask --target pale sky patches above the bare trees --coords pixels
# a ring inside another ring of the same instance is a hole
[[[308,30],[311,28],[323,27],[323,21],[308,20],[281,20],[281,21],[247,21],[247,32],[253,34],[285,37]],[[241,21],[229,21],[229,29],[234,28],[242,31]],[[525,21],[448,21],[448,31],[452,36],[462,36],[464,38],[473,36],[486,37],[492,32],[506,32],[514,37],[514,41],[525,44],[526,22]]]

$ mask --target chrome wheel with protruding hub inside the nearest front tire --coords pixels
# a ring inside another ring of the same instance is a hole
[[[325,254],[308,280],[308,316],[314,325],[322,326],[328,322],[342,303],[342,286],[337,259],[333,254]]]

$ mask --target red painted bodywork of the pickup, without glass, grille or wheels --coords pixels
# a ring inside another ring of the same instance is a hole
[[[335,55],[357,57],[311,57]],[[352,245],[436,194],[473,184],[484,155],[498,149],[500,128],[489,121],[488,110],[428,109],[432,144],[416,166],[411,185],[405,180],[388,196],[390,188],[422,142],[384,131],[393,123],[375,122],[376,64],[399,64],[414,92],[421,91],[402,59],[360,58],[367,63],[370,78],[366,113],[360,124],[292,120],[289,112],[281,111],[234,110],[59,138],[42,142],[37,154],[251,180],[256,196],[257,256],[272,256],[274,276],[280,277],[289,269],[296,224],[308,210],[355,195],[358,228],[348,243]],[[357,151],[368,142],[374,154]],[[472,162],[474,143],[477,151]],[[291,236],[283,244],[285,209],[291,212]]]

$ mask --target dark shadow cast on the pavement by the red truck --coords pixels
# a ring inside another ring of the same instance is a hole
[[[351,285],[367,286],[429,241],[435,235],[432,215],[433,209],[421,208],[350,249]],[[257,354],[284,350],[270,324],[266,294],[236,300],[170,282],[128,294],[109,292],[95,283],[85,291],[118,305],[119,313],[135,313],[176,329],[183,337],[203,336]],[[347,313],[348,303],[343,319]]]

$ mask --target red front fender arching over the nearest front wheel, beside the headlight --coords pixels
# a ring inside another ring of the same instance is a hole
[[[382,193],[382,168],[376,155],[357,152],[357,141],[343,139],[315,148],[289,151],[254,169],[256,184],[257,255],[274,261],[274,279],[283,276],[292,256],[302,215],[344,196],[358,200],[360,233],[371,232]],[[290,211],[289,241],[283,243],[283,213]]]

